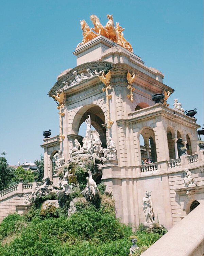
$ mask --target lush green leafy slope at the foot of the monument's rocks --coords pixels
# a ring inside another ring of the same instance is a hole
[[[131,233],[131,228],[119,223],[113,215],[93,207],[69,218],[36,216],[29,223],[24,217],[12,214],[0,225],[0,255],[124,256],[129,253]],[[11,242],[5,244],[11,236]]]

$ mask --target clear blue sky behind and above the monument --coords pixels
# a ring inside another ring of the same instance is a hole
[[[56,103],[47,96],[82,40],[80,20],[106,14],[125,28],[134,53],[165,74],[185,110],[203,125],[203,1],[1,1],[0,153],[11,165],[39,159],[43,131],[59,133]]]

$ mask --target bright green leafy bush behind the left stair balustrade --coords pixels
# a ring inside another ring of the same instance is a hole
[[[19,179],[22,178],[22,183],[31,183],[34,182],[34,177],[36,176],[36,172],[32,170],[24,170],[21,166],[14,170],[14,177],[11,179],[10,186],[19,183]]]

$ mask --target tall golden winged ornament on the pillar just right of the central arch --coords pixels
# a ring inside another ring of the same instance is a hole
[[[110,110],[109,110],[109,101],[108,101],[108,100],[110,100],[112,98],[112,95],[108,94],[108,89],[111,89],[111,86],[110,86],[111,71],[109,70],[106,75],[105,75],[105,73],[103,71],[101,76],[100,75],[97,75],[97,76],[99,77],[101,82],[105,84],[105,88],[102,88],[102,90],[105,91],[105,95],[106,95],[107,127],[108,127],[108,129],[110,129],[111,126],[114,123],[110,119]]]

